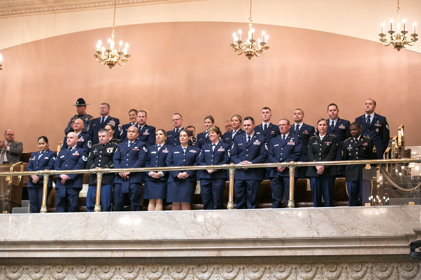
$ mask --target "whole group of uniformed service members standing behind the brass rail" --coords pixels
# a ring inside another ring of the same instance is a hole
[[[86,114],[85,101],[77,100],[77,115],[65,129],[61,150],[48,149],[48,139],[38,139],[40,152],[32,153],[28,171],[56,170],[56,212],[77,212],[83,174],[67,174],[66,170],[95,168],[140,168],[166,166],[196,166],[279,163],[289,161],[325,162],[334,160],[383,159],[389,144],[386,118],[374,113],[376,102],[365,102],[365,114],[353,123],[338,117],[338,106],[328,105],[328,118],[320,118],[316,127],[303,122],[304,111],[293,112],[293,123],[282,118],[272,123],[269,107],[261,110],[261,124],[252,117],[233,115],[225,123],[223,133],[212,116],[204,118],[205,131],[194,137],[195,128],[182,126],[181,114],[173,115],[173,129],[165,131],[147,125],[147,112],[131,109],[130,123],[120,127],[120,120],[109,115],[110,106],[100,105],[101,117]],[[333,186],[344,174],[349,194],[349,206],[368,202],[372,172],[365,165],[320,165],[296,168],[295,180],[308,178],[314,207],[333,207]],[[96,174],[91,174],[86,198],[88,212],[94,210]],[[149,199],[148,210],[162,210],[165,201],[173,210],[189,210],[197,181],[203,209],[224,209],[224,189],[227,170],[174,170],[155,172],[104,173],[101,181],[103,211],[123,211],[130,201],[132,211],[141,210],[141,198]],[[272,207],[281,208],[284,196],[288,200],[289,170],[285,167],[241,168],[235,171],[234,191],[237,209],[257,206],[261,181],[270,179]],[[43,177],[29,176],[30,211],[40,212]],[[143,197],[141,187],[144,184]],[[48,193],[52,180],[48,183]],[[323,204],[324,200],[324,204]]]

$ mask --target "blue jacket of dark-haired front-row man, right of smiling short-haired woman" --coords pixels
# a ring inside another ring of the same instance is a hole
[[[247,160],[251,163],[264,163],[267,158],[268,147],[264,136],[254,133],[253,138],[247,143],[247,134],[234,136],[231,148],[231,161],[240,163]],[[264,180],[264,168],[238,169],[235,171],[237,180]]]

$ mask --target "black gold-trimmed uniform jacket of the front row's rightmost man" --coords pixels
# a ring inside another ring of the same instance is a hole
[[[344,141],[344,147],[342,148],[342,160],[377,160],[376,146],[374,145],[373,140],[362,135],[358,144],[355,143],[354,138],[352,137],[346,139]],[[346,165],[345,180],[358,181],[360,176],[364,180],[370,180],[371,172],[363,173],[363,168],[365,168],[364,164]],[[363,176],[363,174],[366,176]]]

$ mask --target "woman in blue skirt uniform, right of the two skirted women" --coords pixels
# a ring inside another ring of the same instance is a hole
[[[180,131],[180,145],[171,147],[167,156],[167,166],[197,165],[200,149],[189,145],[190,131]],[[172,210],[191,210],[196,188],[197,170],[169,171],[167,201],[172,202]]]

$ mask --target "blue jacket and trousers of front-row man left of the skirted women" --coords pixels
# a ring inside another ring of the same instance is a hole
[[[128,141],[118,144],[117,152],[114,153],[114,168],[141,168],[145,166],[147,148],[144,142],[134,140],[128,147]],[[140,193],[143,184],[143,173],[132,172],[129,178],[123,179],[118,173],[115,174],[114,207],[115,211],[123,211],[124,196],[128,194],[131,210],[140,211]]]

